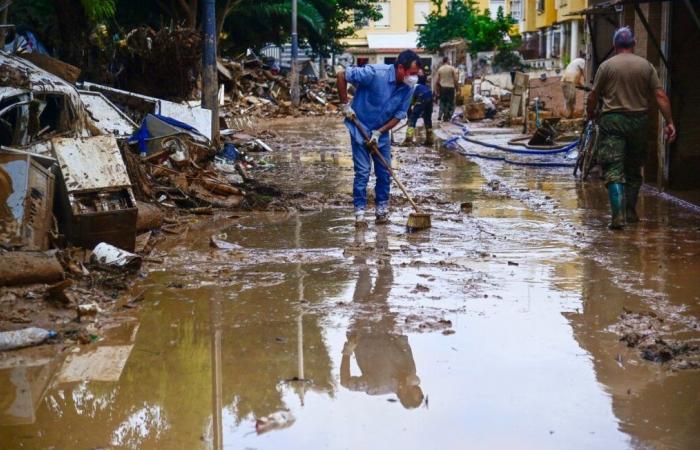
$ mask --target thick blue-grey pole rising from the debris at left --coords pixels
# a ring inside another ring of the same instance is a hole
[[[202,58],[202,107],[211,110],[212,143],[219,141],[219,78],[216,71],[216,0],[202,2],[204,54]]]

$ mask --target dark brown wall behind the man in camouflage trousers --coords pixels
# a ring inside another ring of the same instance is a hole
[[[678,129],[676,142],[665,146],[660,133],[663,120],[653,105],[645,181],[660,189],[684,191],[683,197],[697,202],[700,199],[700,179],[695,175],[700,164],[700,86],[697,83],[700,28],[683,1],[623,2],[617,10],[608,1],[590,3],[586,18],[591,61],[588,78],[593,79],[600,64],[614,54],[615,29],[632,28],[637,39],[636,53],[654,65],[666,86]],[[694,4],[693,8],[695,14],[700,15],[700,6]],[[668,67],[659,48],[664,52]]]

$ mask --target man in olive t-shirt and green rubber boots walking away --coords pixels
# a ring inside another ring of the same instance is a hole
[[[676,139],[671,102],[654,66],[634,54],[635,43],[628,27],[615,32],[616,55],[598,69],[586,106],[589,119],[595,117],[597,105],[601,106],[598,158],[610,197],[611,229],[623,228],[625,221],[639,221],[636,206],[647,157],[650,97],[656,99],[666,120],[666,139],[668,142]]]

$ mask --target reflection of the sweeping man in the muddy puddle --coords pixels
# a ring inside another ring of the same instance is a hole
[[[364,233],[364,231],[358,231]],[[363,236],[359,236],[362,239]],[[358,236],[356,236],[356,240]],[[420,379],[408,337],[400,333],[396,314],[387,303],[394,275],[388,252],[386,227],[377,227],[377,278],[372,287],[367,258],[358,256],[359,276],[353,294],[358,307],[347,332],[340,363],[340,384],[368,395],[394,393],[405,408],[423,403]],[[361,375],[353,376],[350,358],[355,355]]]

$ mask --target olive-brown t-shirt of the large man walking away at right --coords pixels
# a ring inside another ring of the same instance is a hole
[[[649,99],[660,87],[654,66],[632,53],[621,53],[605,61],[593,82],[604,113],[646,111]]]

